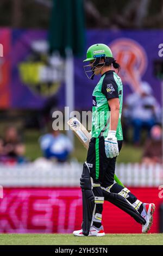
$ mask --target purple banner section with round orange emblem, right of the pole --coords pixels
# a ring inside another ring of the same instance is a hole
[[[153,62],[161,60],[158,52],[159,44],[163,42],[163,31],[87,32],[87,47],[99,42],[110,46],[114,58],[121,64],[119,75],[123,82],[124,101],[129,93],[140,92],[141,82],[146,81],[161,103],[161,82],[154,76]],[[91,107],[91,94],[99,78],[91,81],[83,75],[82,60],[76,59],[75,67],[76,107]]]

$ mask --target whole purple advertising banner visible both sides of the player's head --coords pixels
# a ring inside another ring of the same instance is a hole
[[[4,54],[3,62],[0,63],[1,68],[8,63],[5,69],[1,69],[1,75],[9,76],[8,82],[5,82],[7,84],[5,90],[9,91],[10,96],[2,106],[0,103],[0,107],[40,109],[49,97],[55,95],[55,99],[58,99],[58,107],[63,109],[65,84],[61,80],[64,79],[64,74],[60,72],[59,77],[53,59],[48,56],[47,32],[6,29],[4,34],[1,31],[2,29],[0,29],[0,43],[2,38],[3,41],[10,40],[10,48],[7,54]],[[83,59],[86,57],[87,47],[97,43],[109,45],[115,59],[121,65],[119,75],[124,86],[124,101],[129,93],[141,91],[142,82],[148,82],[153,95],[161,103],[161,82],[153,74],[153,63],[155,60],[161,60],[158,53],[159,44],[163,43],[163,31],[96,29],[87,31],[86,35],[85,55],[80,59],[74,58],[75,109],[86,110],[92,106],[91,95],[99,77],[95,77],[92,81],[85,76]],[[1,81],[0,93],[4,94]]]

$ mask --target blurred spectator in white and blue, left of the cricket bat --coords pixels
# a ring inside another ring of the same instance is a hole
[[[70,139],[60,131],[53,130],[41,136],[39,141],[43,155],[47,159],[55,159],[58,162],[66,162],[73,150]]]

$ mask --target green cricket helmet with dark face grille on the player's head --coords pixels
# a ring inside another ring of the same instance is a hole
[[[101,59],[104,59],[103,63],[100,63]],[[112,52],[109,48],[109,46],[104,44],[96,44],[91,45],[86,53],[86,59],[83,60],[83,62],[92,62],[92,64],[84,65],[84,71],[86,76],[89,79],[93,79],[95,73],[95,68],[97,70],[103,68],[103,66],[109,65],[112,63],[114,58],[112,57]],[[89,72],[92,72],[91,76],[88,75]]]

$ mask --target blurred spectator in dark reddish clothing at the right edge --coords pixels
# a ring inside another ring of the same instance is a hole
[[[147,140],[143,149],[143,163],[161,163],[162,162],[162,129],[155,125],[151,129],[151,138]]]

